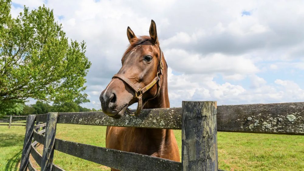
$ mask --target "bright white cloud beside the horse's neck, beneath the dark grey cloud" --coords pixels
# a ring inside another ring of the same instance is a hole
[[[259,71],[253,61],[243,56],[225,54],[191,54],[181,49],[168,49],[165,51],[168,64],[178,72],[188,74],[226,73],[226,74],[252,74]],[[240,76],[239,76],[240,77]]]

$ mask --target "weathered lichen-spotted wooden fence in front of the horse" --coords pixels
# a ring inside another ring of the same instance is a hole
[[[181,129],[182,161],[57,139],[57,123]],[[184,101],[181,108],[144,109],[139,116],[125,114],[119,119],[102,112],[29,115],[20,171],[36,170],[29,154],[41,171],[64,170],[53,164],[54,150],[119,170],[217,171],[217,131],[304,135],[304,103],[216,106],[210,101]],[[37,143],[44,145],[42,155]]]

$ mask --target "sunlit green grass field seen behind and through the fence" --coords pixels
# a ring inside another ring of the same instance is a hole
[[[181,131],[174,131],[181,152]],[[0,170],[18,170],[24,127],[0,126]],[[57,124],[56,138],[105,147],[105,127]],[[42,147],[38,147],[42,154]],[[304,136],[218,132],[219,169],[303,170]],[[65,170],[110,170],[58,151],[54,163]]]

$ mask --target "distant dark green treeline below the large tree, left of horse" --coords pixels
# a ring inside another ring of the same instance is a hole
[[[30,115],[30,114],[44,114],[48,112],[91,112],[101,111],[101,109],[88,109],[81,107],[75,102],[64,103],[44,103],[42,101],[36,101],[35,104],[26,105],[22,103],[16,103],[14,107],[6,113],[6,115]]]

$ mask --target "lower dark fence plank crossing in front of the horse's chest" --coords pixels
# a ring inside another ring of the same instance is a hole
[[[55,149],[119,170],[181,170],[181,163],[148,155],[123,152],[119,150],[86,145],[71,141],[56,139]]]

